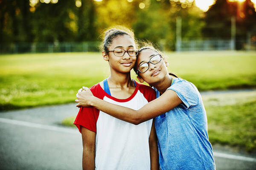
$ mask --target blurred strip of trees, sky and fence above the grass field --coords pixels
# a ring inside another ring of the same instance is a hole
[[[256,0],[0,0],[0,51],[97,51],[122,25],[164,51],[255,50]]]

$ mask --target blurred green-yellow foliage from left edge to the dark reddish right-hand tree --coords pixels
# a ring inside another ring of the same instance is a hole
[[[144,3],[145,8],[139,8]],[[102,30],[122,25],[133,28],[138,39],[151,40],[164,50],[175,49],[176,18],[183,18],[182,37],[201,37],[203,12],[193,3],[156,0],[59,0],[35,6],[20,0],[0,1],[0,44],[14,42],[96,41]],[[0,46],[0,51],[8,49]],[[24,45],[23,51],[28,51]]]

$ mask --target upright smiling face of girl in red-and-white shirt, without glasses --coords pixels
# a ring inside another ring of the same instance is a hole
[[[137,57],[129,56],[127,52],[125,52],[124,56],[116,56],[112,51],[115,49],[136,50],[134,40],[128,35],[118,35],[108,47],[110,52],[102,52],[103,58],[109,62],[111,71],[129,73],[134,67]]]

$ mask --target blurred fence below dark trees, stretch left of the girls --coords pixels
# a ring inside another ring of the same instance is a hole
[[[0,45],[0,53],[56,53],[99,51],[99,42],[12,43]]]

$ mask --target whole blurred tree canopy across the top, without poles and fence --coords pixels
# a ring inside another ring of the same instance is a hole
[[[133,28],[138,39],[174,50],[176,18],[182,18],[182,39],[256,36],[253,3],[217,0],[207,12],[193,0],[0,0],[0,44],[15,42],[99,41],[105,28]]]

